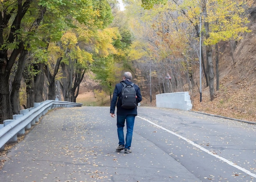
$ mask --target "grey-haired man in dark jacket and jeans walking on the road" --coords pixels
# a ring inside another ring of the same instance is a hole
[[[124,153],[131,153],[130,149],[132,143],[132,132],[135,121],[135,116],[137,116],[137,106],[134,108],[126,109],[122,107],[122,89],[124,85],[132,84],[132,74],[130,72],[125,72],[123,75],[123,80],[120,83],[117,83],[113,93],[113,98],[110,104],[110,116],[115,117],[115,106],[117,105],[117,134],[119,139],[119,146],[116,148],[116,151],[124,150]],[[124,83],[122,83],[124,82]],[[137,103],[142,100],[139,86],[136,84],[133,85],[136,91]],[[124,124],[126,121],[126,138],[124,140]]]

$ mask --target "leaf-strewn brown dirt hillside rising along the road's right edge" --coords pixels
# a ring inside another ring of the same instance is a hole
[[[193,96],[193,110],[256,122],[256,24],[239,42],[220,44],[220,90],[210,101],[209,88]],[[234,54],[231,54],[234,50]],[[215,64],[215,63],[214,63]]]

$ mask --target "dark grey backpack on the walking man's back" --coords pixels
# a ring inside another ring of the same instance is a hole
[[[137,96],[136,96],[136,90],[133,87],[134,83],[127,84],[124,82],[121,82],[123,84],[123,89],[122,89],[122,103],[121,107],[125,109],[132,109],[137,106]]]

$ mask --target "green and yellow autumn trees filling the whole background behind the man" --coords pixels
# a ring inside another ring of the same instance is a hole
[[[1,0],[0,122],[18,114],[22,87],[27,107],[54,99],[57,84],[63,98],[75,102],[89,71],[110,98],[124,70],[144,95],[151,89],[193,92],[200,57],[213,100],[218,44],[239,41],[250,31],[247,10],[253,1],[124,3],[120,11],[116,0]]]

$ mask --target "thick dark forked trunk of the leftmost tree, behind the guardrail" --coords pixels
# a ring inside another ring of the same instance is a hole
[[[5,1],[1,2],[4,3]],[[27,13],[27,10],[29,9],[32,2],[33,0],[26,0],[24,2],[22,0],[18,0],[13,2],[13,5],[16,7],[9,11],[9,13],[5,12],[1,15],[0,46],[2,47],[2,50],[0,51],[0,123],[2,123],[5,119],[12,118],[11,99],[9,95],[8,83],[9,76],[11,73],[11,68],[13,67],[14,62],[20,53],[20,48],[23,46],[22,40],[19,39],[22,37],[19,36],[19,34],[22,32],[20,28],[21,21],[24,15]],[[32,26],[34,26],[34,24],[32,24]],[[10,30],[7,31],[5,29],[6,27],[10,27]],[[18,48],[12,49],[10,47],[6,47],[6,45],[15,46],[13,43],[16,43]],[[7,58],[7,52],[9,59]],[[13,88],[15,90],[17,89],[18,83],[15,82],[14,85],[15,86]]]

